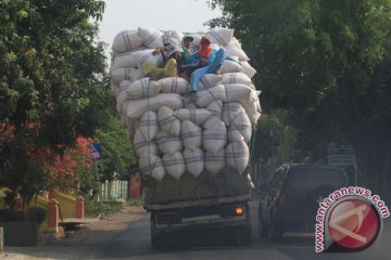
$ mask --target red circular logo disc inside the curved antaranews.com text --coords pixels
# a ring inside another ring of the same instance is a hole
[[[380,218],[374,205],[360,198],[337,203],[328,216],[329,234],[344,249],[361,250],[370,246],[380,227]]]

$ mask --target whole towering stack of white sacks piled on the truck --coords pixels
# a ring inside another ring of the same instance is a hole
[[[203,35],[187,35],[197,50]],[[162,56],[153,51],[167,39],[181,42],[182,32],[139,27],[121,31],[112,46],[111,88],[122,126],[141,172],[159,181],[180,180],[186,173],[224,174],[225,167],[242,174],[249,164],[249,143],[261,116],[260,91],[252,83],[256,72],[234,30],[216,28],[205,35],[212,48],[224,48],[231,58],[219,74],[202,77],[192,103],[185,78],[152,80],[141,69],[144,64],[162,67]]]

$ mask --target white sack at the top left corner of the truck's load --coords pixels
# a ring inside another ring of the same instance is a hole
[[[127,52],[140,47],[143,38],[137,30],[123,30],[114,38],[112,50],[115,52]]]

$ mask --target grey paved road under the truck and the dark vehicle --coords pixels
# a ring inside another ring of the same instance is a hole
[[[150,244],[149,216],[134,223],[124,233],[117,235],[113,240],[100,245],[85,244],[80,247],[45,248],[53,250],[39,255],[37,249],[36,258],[17,259],[138,259],[138,260],[168,260],[168,259],[190,259],[190,260],[389,260],[391,259],[391,221],[386,222],[380,238],[365,251],[356,253],[315,253],[314,237],[310,234],[288,234],[280,243],[270,243],[257,236],[257,209],[251,205],[253,243],[251,246],[224,246],[210,245],[206,239],[203,244],[195,243],[185,247],[171,248],[165,250],[154,250]],[[205,237],[207,238],[207,237]],[[43,248],[42,248],[43,249]],[[65,257],[64,257],[65,256]],[[10,259],[10,258],[9,258]]]

